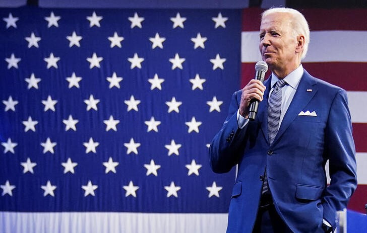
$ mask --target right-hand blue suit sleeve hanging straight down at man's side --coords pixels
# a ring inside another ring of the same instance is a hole
[[[330,109],[324,153],[331,178],[323,196],[324,218],[335,229],[336,211],[346,208],[357,185],[352,123],[344,90],[336,94]]]

